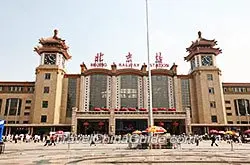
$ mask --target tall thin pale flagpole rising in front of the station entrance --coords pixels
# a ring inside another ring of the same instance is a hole
[[[148,87],[149,87],[149,109],[148,109],[148,126],[154,125],[153,110],[152,110],[152,79],[151,79],[151,67],[149,56],[149,28],[148,28],[148,0],[146,0],[146,27],[147,27],[147,55],[148,55]]]

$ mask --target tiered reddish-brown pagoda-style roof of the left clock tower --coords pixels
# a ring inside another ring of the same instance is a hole
[[[65,59],[70,59],[71,56],[68,53],[68,46],[65,44],[65,40],[59,38],[58,31],[54,30],[54,36],[48,37],[48,38],[41,38],[39,39],[39,43],[41,45],[34,48],[34,51],[36,51],[39,55],[41,55],[44,52],[58,52],[61,53]]]

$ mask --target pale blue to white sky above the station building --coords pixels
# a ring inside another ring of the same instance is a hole
[[[148,0],[150,61],[161,52],[164,63],[188,74],[186,48],[201,31],[222,49],[221,81],[250,82],[249,6],[249,0]],[[3,0],[0,22],[0,81],[35,81],[34,47],[54,29],[72,55],[67,73],[80,73],[82,62],[89,68],[99,52],[109,68],[128,52],[134,63],[147,63],[145,0]]]

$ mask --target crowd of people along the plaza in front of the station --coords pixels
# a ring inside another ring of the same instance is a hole
[[[7,135],[3,136],[3,141],[4,142],[11,142],[11,143],[44,143],[44,146],[52,146],[56,145],[58,142],[62,141],[79,141],[80,139],[83,139],[85,135],[70,135],[69,134],[47,134],[47,135],[29,135],[29,134],[16,134],[16,135]],[[100,138],[108,137],[109,135],[103,135]],[[186,135],[186,134],[181,134],[181,135],[172,135],[171,137],[177,138],[176,143],[188,143],[188,144],[196,144],[196,146],[199,146],[199,143],[201,141],[207,141],[211,140],[211,146],[218,146],[220,142],[227,142],[227,143],[239,143],[242,144],[242,142],[245,142],[246,135],[229,135],[229,134],[204,134],[204,135]],[[182,139],[182,140],[181,140]],[[185,139],[183,141],[183,139]],[[179,140],[179,141],[178,141]],[[89,141],[90,145],[95,145],[95,142],[92,140]],[[107,142],[108,143],[108,142]],[[174,142],[173,142],[174,143]]]

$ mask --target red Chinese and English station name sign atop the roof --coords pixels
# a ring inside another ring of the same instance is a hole
[[[91,67],[96,67],[96,68],[105,68],[108,66],[107,63],[104,62],[104,54],[102,52],[97,53],[95,55],[94,58],[94,63],[90,63]],[[113,62],[113,64],[115,64]],[[136,67],[140,67],[139,63],[133,63],[132,61],[132,54],[130,52],[128,52],[128,54],[126,55],[126,61],[124,63],[118,63],[119,67],[123,67],[123,68],[136,68]],[[150,67],[153,68],[167,68],[169,67],[169,64],[167,63],[163,63],[163,57],[161,56],[161,52],[156,53],[155,55],[155,63],[151,63]]]

